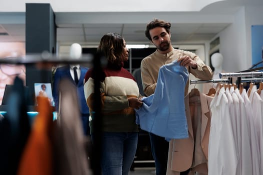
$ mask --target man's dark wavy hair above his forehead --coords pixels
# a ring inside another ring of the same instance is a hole
[[[153,28],[158,27],[158,26],[164,27],[165,30],[167,31],[167,33],[170,33],[170,28],[171,28],[170,22],[168,22],[166,20],[161,20],[161,19],[154,19],[147,24],[146,30],[145,30],[145,35],[150,41],[152,41],[152,38],[150,35],[150,29],[153,29]]]

